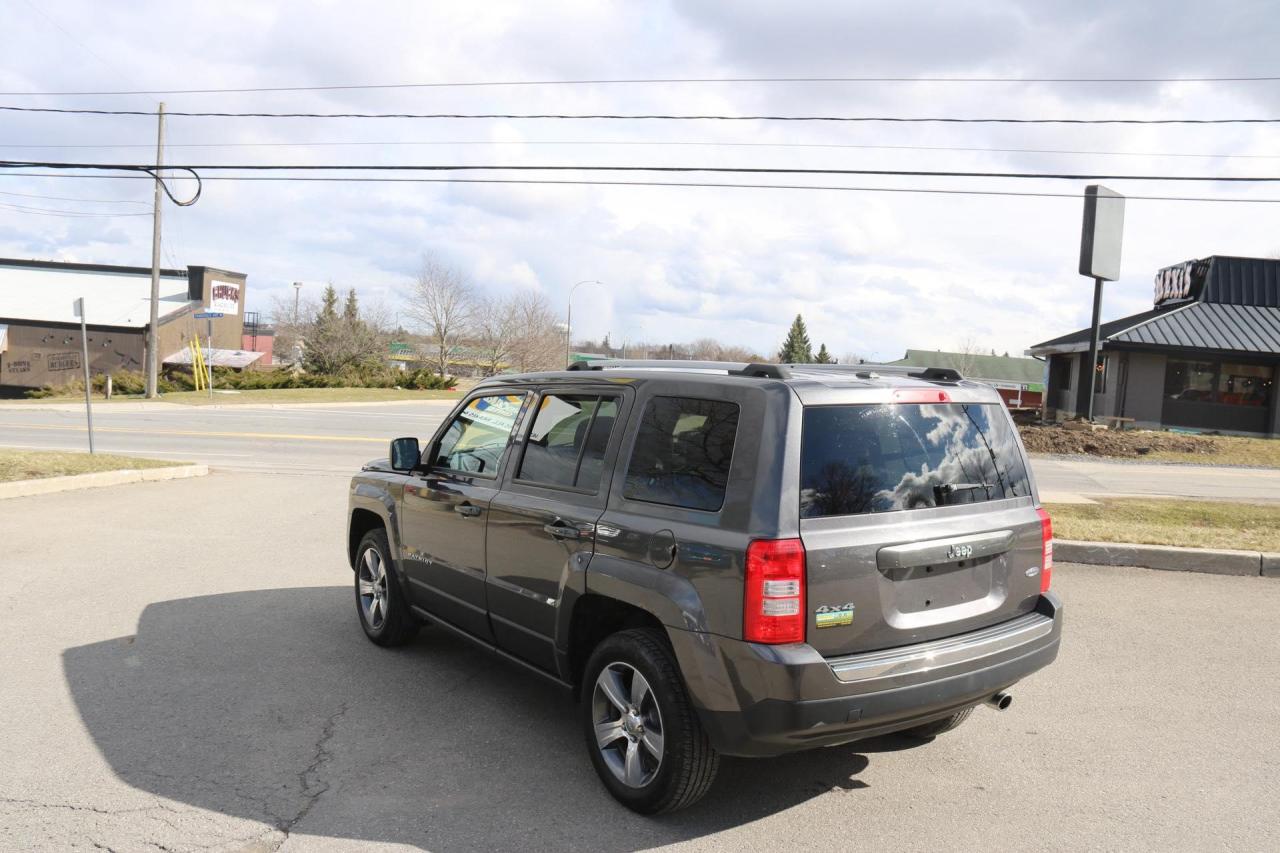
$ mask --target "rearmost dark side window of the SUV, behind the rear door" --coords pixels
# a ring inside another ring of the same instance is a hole
[[[654,397],[644,410],[622,494],[716,512],[724,503],[737,403]]]

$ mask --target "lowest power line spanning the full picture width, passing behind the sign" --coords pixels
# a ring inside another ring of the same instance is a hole
[[[102,181],[145,181],[146,175],[140,174],[68,174],[65,172],[0,172],[0,177],[24,178],[90,178]],[[581,187],[710,187],[723,190],[823,190],[837,192],[893,192],[913,195],[947,195],[947,196],[1006,196],[1020,199],[1074,199],[1080,200],[1076,192],[1018,192],[1012,190],[943,190],[933,187],[850,187],[831,184],[808,183],[719,183],[695,181],[595,181],[595,179],[550,179],[550,178],[385,178],[385,177],[357,177],[357,175],[209,175],[204,181],[262,181],[279,183],[495,183],[495,184],[531,184],[531,186],[581,186]],[[1134,201],[1199,201],[1222,204],[1280,204],[1280,199],[1229,199],[1222,196],[1151,196],[1126,195],[1125,199]],[[136,214],[128,214],[136,215]]]

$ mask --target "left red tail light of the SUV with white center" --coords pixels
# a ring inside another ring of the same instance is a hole
[[[746,547],[742,638],[750,643],[803,643],[804,544],[756,539]]]

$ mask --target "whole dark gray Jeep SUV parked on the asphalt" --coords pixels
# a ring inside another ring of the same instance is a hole
[[[477,386],[351,482],[356,610],[572,690],[641,813],[721,754],[933,738],[1048,665],[1048,515],[993,388],[954,370],[575,364]]]

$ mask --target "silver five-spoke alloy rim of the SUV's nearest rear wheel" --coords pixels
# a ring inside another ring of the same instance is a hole
[[[621,661],[600,670],[591,693],[595,744],[609,771],[628,788],[658,774],[664,749],[662,712],[649,681]]]

